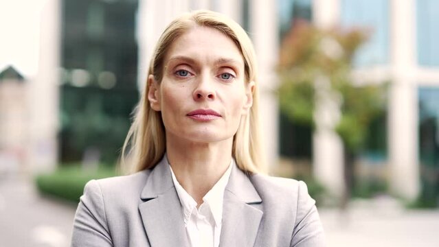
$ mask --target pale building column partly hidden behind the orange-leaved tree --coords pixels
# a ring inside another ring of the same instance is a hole
[[[314,0],[313,23],[328,29],[339,23],[339,0]],[[322,82],[316,91],[317,102],[314,113],[316,128],[313,133],[313,174],[322,183],[331,196],[341,198],[344,195],[344,149],[343,142],[335,132],[339,121],[339,106],[331,96],[329,82]],[[326,85],[326,87],[322,87]]]

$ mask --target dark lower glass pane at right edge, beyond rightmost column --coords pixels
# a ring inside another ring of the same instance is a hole
[[[420,198],[439,203],[439,87],[421,87],[419,98]]]

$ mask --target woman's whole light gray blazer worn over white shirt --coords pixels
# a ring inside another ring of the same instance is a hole
[[[166,161],[129,176],[87,183],[71,246],[189,246]],[[324,246],[305,183],[249,176],[234,166],[224,193],[220,246]]]

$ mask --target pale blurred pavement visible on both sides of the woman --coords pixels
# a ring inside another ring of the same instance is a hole
[[[0,177],[0,247],[67,247],[76,204],[45,198],[25,178]],[[388,199],[319,209],[328,247],[439,246],[439,210],[407,211]]]

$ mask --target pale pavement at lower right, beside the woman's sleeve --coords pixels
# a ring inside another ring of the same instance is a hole
[[[348,213],[319,213],[328,247],[439,246],[439,210],[407,210],[384,199],[359,202]]]

